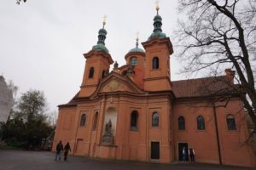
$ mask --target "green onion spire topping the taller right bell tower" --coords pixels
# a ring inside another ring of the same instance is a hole
[[[166,34],[162,32],[162,28],[161,28],[161,26],[162,26],[162,17],[159,14],[160,7],[159,7],[158,3],[159,3],[159,1],[156,1],[156,7],[155,7],[156,15],[154,16],[154,24],[153,24],[154,31],[151,34],[151,36],[148,37],[148,40],[151,40],[151,39],[156,38],[156,37],[158,37],[158,38],[166,37]]]

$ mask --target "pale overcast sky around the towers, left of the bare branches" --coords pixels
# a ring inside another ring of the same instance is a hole
[[[20,5],[1,0],[0,75],[19,87],[18,94],[29,89],[44,91],[49,110],[56,111],[57,105],[79,91],[83,54],[96,45],[104,14],[108,16],[106,47],[119,66],[125,65],[137,31],[145,42],[154,29],[154,0],[27,0]],[[161,0],[160,15],[162,30],[172,41],[177,0]],[[172,56],[172,80],[182,79],[177,74],[182,65],[176,60]]]

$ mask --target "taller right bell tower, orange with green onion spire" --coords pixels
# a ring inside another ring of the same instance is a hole
[[[146,68],[144,76],[144,90],[163,91],[171,90],[170,55],[173,53],[172,42],[162,32],[162,18],[159,14],[159,7],[156,7],[154,16],[154,31],[143,42],[146,50]]]

